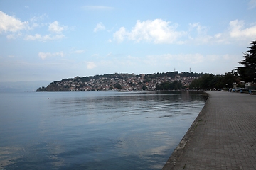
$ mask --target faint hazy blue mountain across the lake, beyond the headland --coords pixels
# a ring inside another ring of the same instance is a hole
[[[38,86],[47,86],[50,81],[0,82],[0,92],[36,91]]]

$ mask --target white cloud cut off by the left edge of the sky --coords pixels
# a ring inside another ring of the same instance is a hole
[[[28,29],[28,21],[21,22],[14,16],[9,16],[0,11],[0,33],[2,32],[17,32],[18,30]]]

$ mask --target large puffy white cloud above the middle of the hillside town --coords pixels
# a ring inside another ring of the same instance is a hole
[[[135,42],[146,41],[161,43],[174,43],[178,38],[186,35],[186,32],[176,31],[177,24],[155,19],[154,21],[137,21],[134,28],[129,32],[121,27],[114,33],[114,40],[122,42],[124,39],[134,40]]]

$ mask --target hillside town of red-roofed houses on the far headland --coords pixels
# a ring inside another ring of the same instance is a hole
[[[155,91],[164,82],[179,81],[183,88],[198,79],[201,74],[166,72],[157,74],[105,74],[95,77],[74,77],[53,81],[37,91]]]

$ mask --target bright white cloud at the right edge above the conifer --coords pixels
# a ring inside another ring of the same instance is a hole
[[[256,26],[251,26],[249,28],[244,28],[244,21],[230,21],[230,37],[238,38],[240,40],[247,38],[256,37]]]

